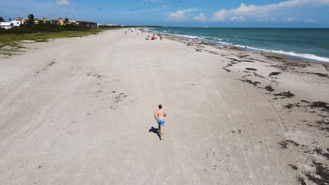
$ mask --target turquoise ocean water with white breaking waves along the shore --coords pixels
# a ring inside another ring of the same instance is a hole
[[[157,27],[150,30],[241,48],[247,44],[248,50],[329,62],[329,29],[326,28]]]

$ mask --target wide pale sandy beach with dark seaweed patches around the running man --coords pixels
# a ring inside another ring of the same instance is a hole
[[[0,184],[329,184],[328,64],[127,30],[0,59]]]

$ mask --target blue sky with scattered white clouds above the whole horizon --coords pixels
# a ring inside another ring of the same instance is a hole
[[[329,0],[11,0],[0,16],[69,18],[120,25],[329,27]]]

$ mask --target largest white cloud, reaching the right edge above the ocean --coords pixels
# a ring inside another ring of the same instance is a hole
[[[329,0],[290,0],[267,5],[240,4],[238,8],[230,10],[221,9],[215,12],[209,20],[213,22],[224,22],[230,18],[231,21],[242,21],[248,19],[258,22],[269,22],[273,21],[270,20],[273,17],[281,17],[280,20],[284,20],[282,16],[288,17],[290,12],[295,8],[315,8],[322,6],[329,6]],[[288,21],[288,19],[285,19],[285,21]],[[289,21],[295,21],[295,19]]]

